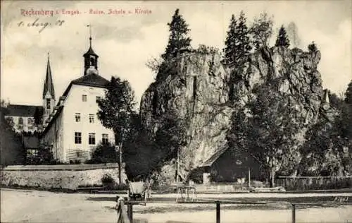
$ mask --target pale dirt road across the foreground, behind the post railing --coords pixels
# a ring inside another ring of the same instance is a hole
[[[334,194],[337,195],[337,194]],[[351,193],[341,195],[352,198]],[[1,222],[116,222],[115,196],[1,189]],[[154,198],[175,195],[154,195]],[[209,197],[209,195],[199,195]],[[213,195],[215,198],[268,195]],[[287,196],[282,194],[282,196]],[[296,195],[299,197],[299,195]],[[305,195],[309,196],[309,195]],[[318,196],[318,195],[315,195]],[[322,194],[322,196],[327,196]],[[215,222],[214,205],[152,203],[134,207],[139,222]],[[352,205],[298,209],[297,222],[352,222]],[[221,222],[291,222],[287,203],[271,207],[222,205]]]

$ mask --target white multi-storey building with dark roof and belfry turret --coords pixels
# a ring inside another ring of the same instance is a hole
[[[91,158],[99,143],[114,143],[114,133],[103,127],[97,117],[98,100],[105,95],[108,80],[99,76],[98,55],[92,49],[83,55],[84,73],[72,80],[46,121],[41,143],[50,147],[61,162],[84,162]],[[48,93],[49,92],[49,93]],[[48,97],[49,95],[49,97]],[[47,90],[44,97],[51,105],[54,95]]]

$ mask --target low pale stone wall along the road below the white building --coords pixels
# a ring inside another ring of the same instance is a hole
[[[75,190],[79,186],[102,185],[105,174],[119,183],[118,164],[8,166],[1,170],[1,185]],[[126,178],[122,169],[122,183]]]

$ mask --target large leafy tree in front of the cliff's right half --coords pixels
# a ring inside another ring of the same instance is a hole
[[[291,156],[296,156],[296,133],[303,120],[297,118],[289,99],[277,92],[275,81],[257,86],[253,92],[257,96],[244,108],[247,111],[242,109],[232,120],[229,141],[262,164],[273,186],[276,172],[287,168],[282,163],[292,160],[290,169],[298,164]]]

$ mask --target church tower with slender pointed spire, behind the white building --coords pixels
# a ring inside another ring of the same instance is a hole
[[[55,106],[55,90],[53,77],[51,76],[50,59],[48,53],[48,62],[46,64],[46,76],[43,88],[43,123],[49,119],[51,112],[54,111]]]

